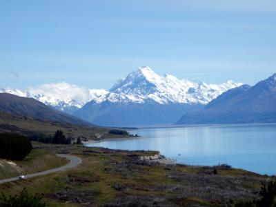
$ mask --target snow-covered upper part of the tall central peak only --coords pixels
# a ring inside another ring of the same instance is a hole
[[[231,88],[241,86],[242,83],[227,81],[221,84],[207,84],[193,82],[186,79],[179,80],[172,75],[157,75],[149,67],[139,68],[131,72],[125,79],[118,81],[110,89],[109,101],[117,101],[113,97],[125,97],[127,101],[144,102],[146,100],[158,103],[201,103],[207,104],[221,93]],[[113,95],[115,94],[115,95]]]

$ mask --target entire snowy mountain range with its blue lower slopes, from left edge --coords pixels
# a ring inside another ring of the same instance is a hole
[[[172,124],[186,112],[201,109],[223,92],[241,86],[227,81],[207,84],[159,76],[148,67],[131,72],[108,90],[52,83],[26,91],[0,89],[32,97],[68,114],[101,126]]]

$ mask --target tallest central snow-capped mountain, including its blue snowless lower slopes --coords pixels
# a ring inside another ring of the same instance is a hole
[[[161,77],[143,67],[119,80],[109,92],[101,92],[74,115],[105,126],[172,124],[184,113],[199,110],[221,93],[241,85]]]

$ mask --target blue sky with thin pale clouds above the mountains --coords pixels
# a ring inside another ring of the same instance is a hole
[[[276,72],[275,0],[0,2],[0,86],[112,86],[139,66],[254,84]]]

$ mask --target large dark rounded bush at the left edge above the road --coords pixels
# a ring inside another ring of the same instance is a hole
[[[0,133],[0,158],[22,160],[32,150],[28,137],[12,133]]]

